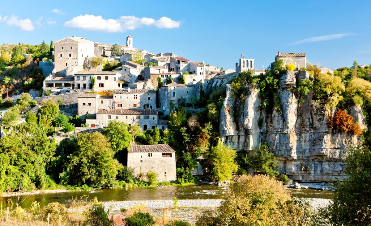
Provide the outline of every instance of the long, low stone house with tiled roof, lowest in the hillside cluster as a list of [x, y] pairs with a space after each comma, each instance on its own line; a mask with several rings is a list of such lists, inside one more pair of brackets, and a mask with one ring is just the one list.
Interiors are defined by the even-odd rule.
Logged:
[[143, 130], [154, 129], [158, 123], [158, 112], [156, 109], [100, 109], [96, 112], [96, 118], [86, 119], [86, 123], [91, 128], [103, 128], [112, 120], [128, 125], [137, 124]]

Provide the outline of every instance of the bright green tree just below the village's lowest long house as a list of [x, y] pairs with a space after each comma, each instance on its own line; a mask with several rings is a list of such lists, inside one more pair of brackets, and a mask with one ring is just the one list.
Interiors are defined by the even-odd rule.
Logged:
[[121, 152], [127, 149], [133, 139], [133, 135], [129, 133], [129, 125], [116, 120], [109, 121], [108, 126], [103, 128], [104, 136], [111, 144], [110, 148], [114, 153]]

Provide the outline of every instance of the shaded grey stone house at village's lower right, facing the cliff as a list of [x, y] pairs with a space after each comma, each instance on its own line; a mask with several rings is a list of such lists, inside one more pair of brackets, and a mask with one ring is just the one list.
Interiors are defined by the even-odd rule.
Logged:
[[170, 111], [178, 107], [179, 101], [189, 103], [191, 98], [196, 96], [196, 90], [195, 85], [183, 85], [176, 82], [163, 85], [158, 90], [159, 111], [164, 115], [169, 115]]

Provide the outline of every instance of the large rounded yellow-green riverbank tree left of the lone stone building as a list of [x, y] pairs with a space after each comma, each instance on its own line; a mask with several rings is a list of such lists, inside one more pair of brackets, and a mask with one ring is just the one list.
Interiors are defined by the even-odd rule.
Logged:
[[86, 184], [93, 188], [111, 187], [122, 165], [113, 158], [114, 152], [104, 135], [80, 133], [71, 142], [74, 148], [60, 173], [61, 182], [77, 186]]

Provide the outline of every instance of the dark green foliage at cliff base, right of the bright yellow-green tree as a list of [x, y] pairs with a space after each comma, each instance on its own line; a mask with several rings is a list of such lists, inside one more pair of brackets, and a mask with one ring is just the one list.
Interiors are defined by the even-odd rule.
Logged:
[[240, 156], [240, 171], [246, 172], [249, 168], [256, 168], [256, 171], [275, 178], [278, 175], [277, 157], [269, 151], [267, 143], [259, 144], [252, 153]]

